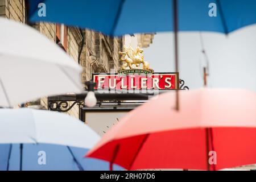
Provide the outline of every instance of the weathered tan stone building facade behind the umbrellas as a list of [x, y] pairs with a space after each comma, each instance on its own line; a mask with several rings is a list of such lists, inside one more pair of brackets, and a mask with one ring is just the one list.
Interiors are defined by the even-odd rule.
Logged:
[[[27, 17], [28, 7], [26, 0], [0, 0], [0, 16], [29, 24], [46, 35], [52, 42], [59, 44], [83, 68], [82, 82], [89, 81], [92, 73], [109, 73], [111, 69], [119, 68], [121, 61], [119, 61], [118, 51], [122, 50], [125, 37], [112, 38], [100, 32], [55, 23], [31, 24]], [[152, 41], [147, 42], [151, 34], [137, 36], [138, 45], [141, 47], [148, 47]], [[127, 40], [129, 41], [129, 38]], [[44, 97], [28, 102], [28, 106], [48, 109], [47, 103], [48, 99]], [[79, 118], [79, 106], [75, 105], [68, 113]]]

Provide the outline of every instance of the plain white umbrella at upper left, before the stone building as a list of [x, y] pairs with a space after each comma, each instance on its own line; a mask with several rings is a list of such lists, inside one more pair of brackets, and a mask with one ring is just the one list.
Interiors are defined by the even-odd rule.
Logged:
[[0, 18], [0, 106], [80, 93], [81, 67], [32, 27]]

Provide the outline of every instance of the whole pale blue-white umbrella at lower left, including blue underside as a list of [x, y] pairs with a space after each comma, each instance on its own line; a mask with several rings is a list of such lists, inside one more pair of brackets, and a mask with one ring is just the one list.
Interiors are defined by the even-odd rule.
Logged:
[[25, 108], [0, 109], [0, 117], [0, 170], [108, 169], [83, 158], [100, 136], [79, 119]]

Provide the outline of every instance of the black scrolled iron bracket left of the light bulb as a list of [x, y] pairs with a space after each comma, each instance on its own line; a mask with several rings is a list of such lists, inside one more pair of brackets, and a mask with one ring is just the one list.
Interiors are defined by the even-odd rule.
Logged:
[[75, 101], [70, 106], [68, 105], [68, 101], [49, 101], [49, 110], [59, 111], [59, 112], [67, 112], [72, 109], [73, 106], [78, 105], [79, 107], [84, 106], [84, 101]]

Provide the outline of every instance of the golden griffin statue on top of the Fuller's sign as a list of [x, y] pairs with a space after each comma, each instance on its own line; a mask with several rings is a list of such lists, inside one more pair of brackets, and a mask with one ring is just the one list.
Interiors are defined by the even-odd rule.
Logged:
[[[134, 50], [131, 46], [123, 46], [124, 52], [119, 51], [119, 55], [122, 55], [121, 61], [124, 61], [122, 70], [125, 69], [145, 69], [150, 72], [154, 72], [147, 61], [144, 61], [143, 49], [137, 47]], [[142, 64], [142, 68], [140, 65]]]

